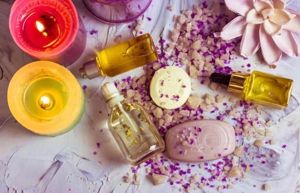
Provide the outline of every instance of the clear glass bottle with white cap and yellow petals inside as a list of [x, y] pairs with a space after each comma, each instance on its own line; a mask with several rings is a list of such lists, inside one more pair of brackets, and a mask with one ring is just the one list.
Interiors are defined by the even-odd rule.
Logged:
[[108, 128], [126, 160], [137, 166], [164, 150], [164, 141], [142, 106], [126, 102], [111, 82], [102, 86], [111, 107]]

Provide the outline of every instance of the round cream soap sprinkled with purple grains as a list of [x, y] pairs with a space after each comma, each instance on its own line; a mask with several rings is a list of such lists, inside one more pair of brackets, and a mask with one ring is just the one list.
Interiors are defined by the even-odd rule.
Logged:
[[175, 66], [157, 70], [150, 83], [154, 103], [163, 109], [181, 107], [190, 94], [190, 79], [186, 72]]

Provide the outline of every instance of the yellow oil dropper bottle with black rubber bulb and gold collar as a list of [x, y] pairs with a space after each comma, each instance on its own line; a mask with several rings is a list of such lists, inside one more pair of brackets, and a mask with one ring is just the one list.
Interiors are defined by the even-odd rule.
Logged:
[[284, 109], [287, 107], [293, 81], [272, 74], [253, 71], [250, 75], [212, 73], [210, 80], [228, 86], [228, 91], [242, 93], [242, 99], [253, 103]]

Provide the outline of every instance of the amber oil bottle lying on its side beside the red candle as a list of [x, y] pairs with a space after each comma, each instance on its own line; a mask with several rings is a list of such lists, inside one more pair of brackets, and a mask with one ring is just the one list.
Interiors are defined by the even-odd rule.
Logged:
[[95, 60], [79, 69], [82, 78], [113, 77], [158, 60], [158, 53], [149, 33], [100, 51]]

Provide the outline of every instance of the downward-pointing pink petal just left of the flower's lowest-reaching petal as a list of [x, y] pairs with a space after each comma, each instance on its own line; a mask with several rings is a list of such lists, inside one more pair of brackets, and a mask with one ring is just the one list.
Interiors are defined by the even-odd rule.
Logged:
[[240, 43], [240, 55], [253, 55], [259, 49], [259, 25], [248, 23]]

